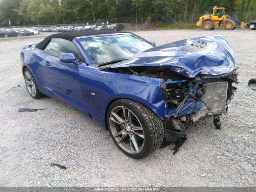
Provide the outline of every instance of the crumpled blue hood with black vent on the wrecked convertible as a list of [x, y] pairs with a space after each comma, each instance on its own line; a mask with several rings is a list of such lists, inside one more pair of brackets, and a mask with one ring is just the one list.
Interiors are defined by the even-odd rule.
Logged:
[[[194, 42], [206, 43], [204, 48], [186, 50]], [[197, 43], [196, 43], [197, 44]], [[191, 46], [190, 46], [191, 48]], [[135, 66], [164, 66], [188, 78], [220, 75], [234, 70], [234, 52], [220, 35], [192, 38], [157, 46], [135, 54], [133, 58], [110, 65], [110, 68]]]

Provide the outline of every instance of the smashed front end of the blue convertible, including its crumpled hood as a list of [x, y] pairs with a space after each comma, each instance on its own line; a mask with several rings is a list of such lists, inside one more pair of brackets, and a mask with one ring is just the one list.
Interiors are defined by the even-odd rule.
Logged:
[[166, 105], [164, 143], [175, 143], [174, 154], [186, 141], [189, 124], [220, 116], [228, 110], [237, 82], [234, 53], [222, 36], [187, 39], [158, 46], [102, 70], [161, 79]]

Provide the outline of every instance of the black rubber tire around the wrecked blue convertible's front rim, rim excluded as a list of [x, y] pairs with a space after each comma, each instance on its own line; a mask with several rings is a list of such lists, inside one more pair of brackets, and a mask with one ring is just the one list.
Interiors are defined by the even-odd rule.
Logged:
[[[115, 140], [112, 131], [110, 130], [110, 113], [114, 108], [119, 106], [124, 106], [125, 108], [132, 111], [142, 125], [144, 132], [144, 146], [142, 150], [137, 154], [128, 153], [123, 150]], [[162, 144], [164, 139], [164, 126], [162, 120], [152, 110], [134, 100], [119, 99], [110, 104], [107, 112], [107, 123], [110, 135], [118, 148], [124, 152], [124, 154], [132, 158], [145, 158], [147, 155], [156, 150]]]

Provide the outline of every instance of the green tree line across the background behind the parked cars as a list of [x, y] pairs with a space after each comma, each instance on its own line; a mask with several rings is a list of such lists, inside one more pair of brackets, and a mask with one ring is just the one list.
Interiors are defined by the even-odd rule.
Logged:
[[0, 0], [0, 26], [109, 21], [190, 28], [214, 6], [241, 21], [256, 18], [256, 0]]

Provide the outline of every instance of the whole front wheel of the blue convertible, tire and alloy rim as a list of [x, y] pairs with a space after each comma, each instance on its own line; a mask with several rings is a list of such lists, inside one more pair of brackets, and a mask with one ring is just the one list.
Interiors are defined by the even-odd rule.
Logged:
[[164, 139], [162, 120], [149, 108], [130, 99], [114, 101], [107, 112], [108, 130], [122, 152], [141, 159]]

